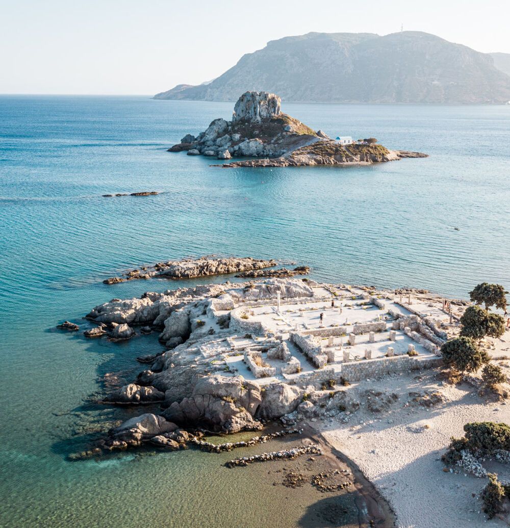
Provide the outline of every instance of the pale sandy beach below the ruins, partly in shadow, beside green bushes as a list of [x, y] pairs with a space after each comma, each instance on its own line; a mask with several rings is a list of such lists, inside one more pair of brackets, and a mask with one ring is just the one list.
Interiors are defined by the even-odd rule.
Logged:
[[[506, 334], [506, 338], [510, 334]], [[422, 380], [416, 373], [393, 375], [384, 380], [352, 386], [358, 394], [364, 389], [391, 390], [400, 395], [392, 409], [374, 414], [366, 403], [353, 414], [350, 422], [324, 421], [326, 439], [350, 457], [374, 483], [397, 515], [397, 525], [415, 528], [473, 528], [504, 526], [503, 521], [486, 521], [478, 495], [487, 483], [476, 478], [443, 472], [440, 457], [450, 437], [464, 436], [462, 427], [472, 421], [510, 423], [510, 404], [485, 403], [468, 385], [442, 384], [438, 373], [425, 371]], [[417, 404], [404, 407], [408, 392], [439, 390], [445, 404], [426, 409]], [[363, 425], [364, 424], [364, 425]], [[427, 424], [430, 429], [412, 432]], [[510, 478], [510, 468], [487, 463], [486, 468]]]

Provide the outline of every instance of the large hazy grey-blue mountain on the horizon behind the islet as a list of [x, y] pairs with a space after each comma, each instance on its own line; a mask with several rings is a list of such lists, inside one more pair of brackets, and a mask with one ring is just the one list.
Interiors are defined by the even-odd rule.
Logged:
[[155, 99], [229, 101], [247, 90], [285, 101], [502, 103], [510, 77], [490, 55], [428, 33], [308, 33], [243, 55], [210, 84]]

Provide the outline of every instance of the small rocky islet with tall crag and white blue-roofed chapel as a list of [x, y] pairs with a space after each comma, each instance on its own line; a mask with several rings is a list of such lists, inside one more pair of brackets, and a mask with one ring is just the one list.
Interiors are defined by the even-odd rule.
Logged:
[[310, 165], [354, 165], [428, 157], [409, 150], [390, 150], [375, 138], [331, 139], [323, 130], [313, 130], [298, 119], [281, 112], [281, 100], [274, 93], [249, 91], [234, 106], [231, 121], [214, 119], [198, 136], [186, 134], [169, 152], [187, 151], [229, 160], [251, 157], [221, 167], [288, 167]]

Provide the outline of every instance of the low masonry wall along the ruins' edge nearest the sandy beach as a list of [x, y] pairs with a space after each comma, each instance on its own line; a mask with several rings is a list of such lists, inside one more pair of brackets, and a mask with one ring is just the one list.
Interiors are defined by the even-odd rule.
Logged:
[[362, 360], [342, 365], [342, 378], [348, 382], [379, 378], [392, 372], [407, 372], [409, 370], [430, 369], [440, 366], [440, 357], [419, 359], [407, 354], [393, 357], [382, 357], [375, 360]]

